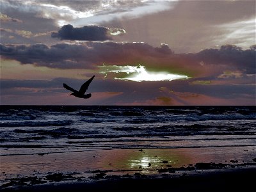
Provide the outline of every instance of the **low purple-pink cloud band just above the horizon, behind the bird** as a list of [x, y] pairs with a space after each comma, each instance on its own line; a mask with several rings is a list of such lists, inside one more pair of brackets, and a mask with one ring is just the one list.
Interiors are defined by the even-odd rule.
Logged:
[[[84, 100], [68, 97], [67, 90], [62, 87], [63, 83], [67, 83], [79, 89], [84, 79], [2, 79], [0, 83], [2, 104], [31, 104], [34, 100], [37, 104], [39, 102], [41, 104], [84, 103]], [[88, 92], [92, 93], [93, 97], [86, 100], [87, 104], [255, 104], [255, 84], [190, 84], [188, 81], [179, 80], [137, 83], [113, 79], [103, 80], [98, 74]], [[48, 97], [52, 97], [51, 100], [47, 99]]]

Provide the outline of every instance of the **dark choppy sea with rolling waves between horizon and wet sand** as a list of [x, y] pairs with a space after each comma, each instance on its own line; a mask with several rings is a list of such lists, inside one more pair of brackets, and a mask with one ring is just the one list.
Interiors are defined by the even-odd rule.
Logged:
[[1, 156], [256, 146], [255, 106], [1, 106]]

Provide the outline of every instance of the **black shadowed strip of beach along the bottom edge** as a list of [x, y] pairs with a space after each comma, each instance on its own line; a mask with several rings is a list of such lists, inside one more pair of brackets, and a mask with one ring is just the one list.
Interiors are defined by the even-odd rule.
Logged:
[[1, 191], [250, 191], [256, 166], [214, 169], [179, 177], [168, 174], [110, 176], [95, 180], [68, 181], [2, 188]]

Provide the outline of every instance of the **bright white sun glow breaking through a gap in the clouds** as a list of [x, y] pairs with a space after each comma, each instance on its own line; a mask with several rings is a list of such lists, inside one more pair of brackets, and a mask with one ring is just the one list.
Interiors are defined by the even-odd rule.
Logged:
[[[180, 74], [170, 74], [168, 72], [149, 72], [144, 66], [117, 66], [117, 65], [102, 65], [99, 66], [100, 73], [106, 74], [113, 72], [116, 74], [126, 73], [125, 77], [115, 77], [115, 79], [129, 80], [129, 81], [172, 81], [175, 79], [188, 79], [188, 76]], [[105, 76], [105, 77], [106, 77]]]

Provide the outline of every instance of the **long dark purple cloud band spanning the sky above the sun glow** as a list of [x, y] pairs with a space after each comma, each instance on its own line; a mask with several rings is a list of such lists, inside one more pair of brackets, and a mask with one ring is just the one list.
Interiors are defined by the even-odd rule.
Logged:
[[49, 68], [94, 68], [102, 65], [143, 65], [148, 70], [184, 74], [189, 77], [218, 77], [225, 71], [255, 74], [256, 52], [234, 45], [205, 49], [194, 54], [173, 54], [168, 45], [86, 42], [84, 44], [0, 45], [3, 58]]

